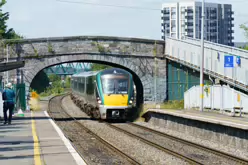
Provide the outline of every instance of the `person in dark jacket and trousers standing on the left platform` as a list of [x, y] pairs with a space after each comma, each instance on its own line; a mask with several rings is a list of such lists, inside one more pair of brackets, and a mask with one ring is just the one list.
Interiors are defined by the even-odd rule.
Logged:
[[[3, 98], [3, 114], [4, 114], [4, 124], [11, 124], [12, 113], [15, 107], [15, 92], [11, 89], [12, 84], [8, 83], [2, 93]], [[7, 118], [7, 111], [9, 110], [9, 118]]]

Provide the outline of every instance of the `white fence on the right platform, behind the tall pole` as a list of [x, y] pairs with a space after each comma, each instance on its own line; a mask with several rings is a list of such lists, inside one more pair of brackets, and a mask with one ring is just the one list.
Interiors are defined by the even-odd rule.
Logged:
[[[206, 87], [205, 87], [206, 88]], [[200, 107], [200, 86], [193, 86], [184, 93], [184, 108]], [[204, 108], [232, 111], [234, 107], [243, 107], [248, 112], [248, 96], [228, 86], [210, 86], [204, 91]]]

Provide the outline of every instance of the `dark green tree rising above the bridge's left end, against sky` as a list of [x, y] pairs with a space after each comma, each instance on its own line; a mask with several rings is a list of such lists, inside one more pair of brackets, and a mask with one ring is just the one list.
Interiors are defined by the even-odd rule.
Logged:
[[6, 22], [9, 19], [9, 12], [3, 13], [2, 7], [6, 4], [6, 0], [0, 2], [0, 39], [20, 39], [23, 38], [17, 34], [13, 28], [8, 29]]

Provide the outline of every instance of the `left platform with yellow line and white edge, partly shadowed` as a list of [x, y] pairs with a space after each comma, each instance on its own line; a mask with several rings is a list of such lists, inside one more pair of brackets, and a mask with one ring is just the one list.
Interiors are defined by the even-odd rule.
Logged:
[[14, 117], [0, 124], [1, 165], [85, 164], [46, 111]]

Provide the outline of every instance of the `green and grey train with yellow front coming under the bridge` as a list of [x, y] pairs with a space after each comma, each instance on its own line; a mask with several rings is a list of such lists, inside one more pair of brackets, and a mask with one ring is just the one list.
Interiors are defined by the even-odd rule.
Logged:
[[126, 120], [134, 104], [132, 75], [120, 68], [82, 72], [71, 76], [71, 98], [96, 119]]

